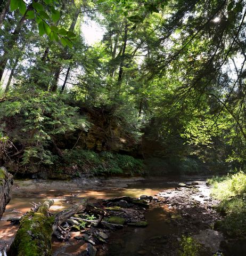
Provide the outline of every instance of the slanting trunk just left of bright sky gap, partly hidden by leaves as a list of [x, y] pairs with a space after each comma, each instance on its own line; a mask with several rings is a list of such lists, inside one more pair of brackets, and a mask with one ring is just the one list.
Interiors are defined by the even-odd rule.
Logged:
[[[77, 8], [76, 11], [75, 11], [75, 14], [73, 16], [73, 20], [72, 20], [72, 23], [70, 25], [69, 31], [73, 31], [75, 29], [75, 25], [76, 25], [76, 22], [78, 20], [79, 13], [80, 13], [80, 9]], [[67, 51], [68, 51], [68, 47], [66, 46], [64, 48], [64, 50], [62, 51], [62, 53], [61, 53], [61, 56], [62, 56], [63, 59], [69, 59], [66, 56]], [[53, 79], [53, 83], [52, 83], [52, 86], [51, 86], [51, 89], [50, 89], [52, 92], [56, 92], [56, 90], [58, 89], [58, 81], [59, 81], [59, 76], [60, 76], [61, 69], [62, 69], [61, 65], [59, 65], [58, 67], [55, 68], [54, 79]]]

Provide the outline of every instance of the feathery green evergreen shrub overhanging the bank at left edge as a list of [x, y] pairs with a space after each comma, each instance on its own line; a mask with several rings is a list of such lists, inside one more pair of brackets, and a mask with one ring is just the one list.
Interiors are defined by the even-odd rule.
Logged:
[[10, 159], [21, 153], [24, 166], [53, 164], [56, 156], [49, 146], [55, 143], [55, 136], [87, 130], [89, 126], [78, 108], [69, 106], [63, 95], [38, 90], [16, 92], [0, 103], [0, 148], [6, 145], [6, 139], [10, 146], [21, 145], [20, 152], [16, 152], [17, 148], [4, 148], [4, 155]]

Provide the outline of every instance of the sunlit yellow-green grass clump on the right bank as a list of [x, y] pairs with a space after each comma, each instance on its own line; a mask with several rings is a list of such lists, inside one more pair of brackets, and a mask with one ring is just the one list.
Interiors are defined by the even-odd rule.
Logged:
[[208, 182], [211, 195], [220, 200], [217, 211], [225, 215], [218, 228], [228, 235], [246, 235], [246, 174], [240, 171]]

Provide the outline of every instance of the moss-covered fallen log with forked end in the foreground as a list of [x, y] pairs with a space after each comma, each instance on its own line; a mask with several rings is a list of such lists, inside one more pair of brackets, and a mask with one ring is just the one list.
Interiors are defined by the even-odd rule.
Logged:
[[47, 200], [36, 212], [29, 211], [21, 218], [17, 235], [7, 252], [8, 256], [51, 256], [52, 233], [72, 215], [83, 211], [87, 201], [83, 200], [56, 215], [51, 215], [48, 211], [53, 204], [53, 200]]

